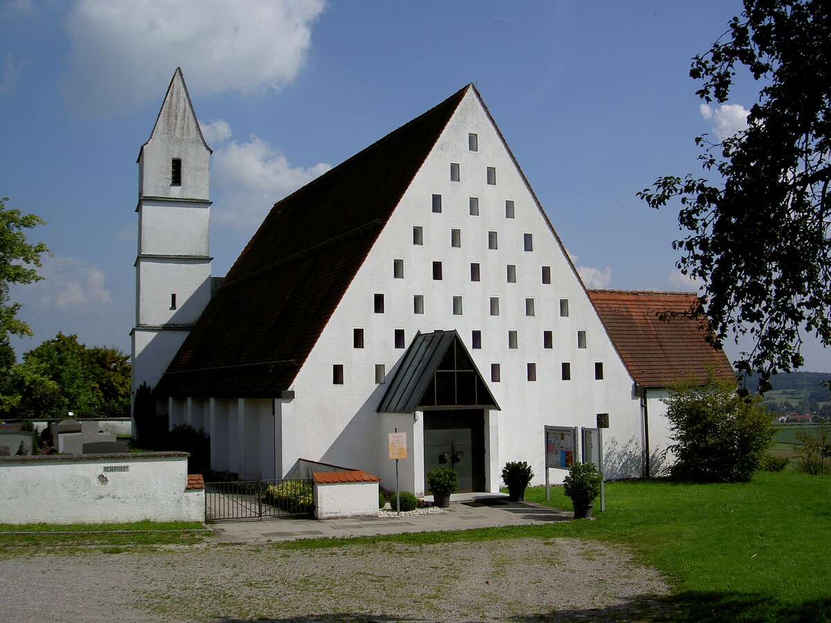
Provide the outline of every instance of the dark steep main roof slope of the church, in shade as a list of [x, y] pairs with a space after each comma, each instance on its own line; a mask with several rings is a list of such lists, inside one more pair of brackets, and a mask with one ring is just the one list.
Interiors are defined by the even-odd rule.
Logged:
[[465, 86], [275, 204], [157, 390], [288, 390], [401, 196], [473, 86]]

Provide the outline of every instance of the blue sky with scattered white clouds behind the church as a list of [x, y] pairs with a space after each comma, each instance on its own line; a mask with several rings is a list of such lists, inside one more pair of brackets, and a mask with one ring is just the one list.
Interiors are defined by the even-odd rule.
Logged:
[[[758, 86], [701, 110], [687, 76], [738, 14], [699, 2], [0, 0], [0, 196], [48, 224], [46, 279], [14, 288], [34, 338], [130, 348], [135, 159], [181, 66], [212, 164], [227, 272], [268, 208], [475, 82], [588, 287], [695, 290], [676, 211], [637, 199], [696, 170]], [[727, 348], [731, 358], [737, 349]], [[809, 341], [805, 370], [831, 370]]]

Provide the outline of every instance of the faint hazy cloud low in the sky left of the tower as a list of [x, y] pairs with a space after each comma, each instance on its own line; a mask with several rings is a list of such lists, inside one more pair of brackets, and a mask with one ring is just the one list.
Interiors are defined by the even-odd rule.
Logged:
[[61, 312], [112, 304], [104, 273], [81, 259], [49, 257], [38, 271], [43, 279], [26, 286], [33, 302]]

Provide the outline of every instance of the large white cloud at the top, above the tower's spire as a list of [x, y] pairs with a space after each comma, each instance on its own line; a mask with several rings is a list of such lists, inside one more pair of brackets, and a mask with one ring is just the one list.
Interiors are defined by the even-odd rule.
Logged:
[[79, 0], [66, 100], [101, 113], [158, 98], [177, 66], [191, 91], [278, 90], [294, 80], [325, 0]]

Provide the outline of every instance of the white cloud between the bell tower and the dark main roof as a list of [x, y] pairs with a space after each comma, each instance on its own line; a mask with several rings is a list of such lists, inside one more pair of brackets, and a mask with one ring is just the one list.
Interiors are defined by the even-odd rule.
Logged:
[[[216, 139], [231, 136], [230, 126], [222, 120], [205, 127]], [[278, 200], [329, 169], [332, 166], [324, 163], [307, 169], [292, 166], [282, 151], [257, 135], [244, 143], [219, 140], [212, 165], [215, 217], [240, 228], [256, 226]]]

